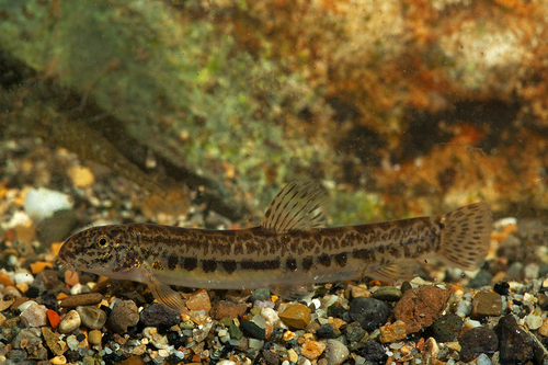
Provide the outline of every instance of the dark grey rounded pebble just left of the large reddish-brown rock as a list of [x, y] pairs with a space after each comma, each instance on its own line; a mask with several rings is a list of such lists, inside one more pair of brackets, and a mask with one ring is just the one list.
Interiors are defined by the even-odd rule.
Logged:
[[350, 304], [349, 316], [359, 322], [367, 331], [375, 330], [388, 320], [390, 308], [384, 301], [374, 298], [358, 297]]

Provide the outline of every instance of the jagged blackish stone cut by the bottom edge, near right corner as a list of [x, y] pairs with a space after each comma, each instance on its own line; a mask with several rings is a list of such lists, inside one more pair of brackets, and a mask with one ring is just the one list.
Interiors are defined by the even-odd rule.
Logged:
[[525, 364], [533, 358], [534, 341], [525, 330], [517, 326], [514, 316], [502, 317], [494, 329], [500, 333], [502, 364]]

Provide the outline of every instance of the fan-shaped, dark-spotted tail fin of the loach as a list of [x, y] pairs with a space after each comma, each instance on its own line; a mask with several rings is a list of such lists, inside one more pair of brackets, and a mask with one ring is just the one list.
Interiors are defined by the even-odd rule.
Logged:
[[476, 270], [486, 259], [491, 241], [491, 206], [475, 203], [444, 216], [442, 243], [437, 252], [446, 264]]

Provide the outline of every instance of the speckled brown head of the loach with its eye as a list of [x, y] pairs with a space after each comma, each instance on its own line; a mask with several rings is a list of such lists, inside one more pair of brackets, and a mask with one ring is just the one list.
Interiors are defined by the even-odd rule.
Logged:
[[67, 267], [114, 278], [125, 278], [141, 263], [130, 226], [93, 227], [69, 237], [58, 261]]

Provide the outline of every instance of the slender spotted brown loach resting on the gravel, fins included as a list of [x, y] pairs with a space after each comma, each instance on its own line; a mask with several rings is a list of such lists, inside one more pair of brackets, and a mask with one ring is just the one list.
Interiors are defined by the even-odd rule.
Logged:
[[297, 299], [320, 283], [409, 280], [419, 263], [431, 258], [476, 270], [489, 251], [492, 214], [487, 203], [445, 215], [344, 227], [324, 227], [326, 206], [321, 184], [295, 181], [279, 191], [256, 227], [92, 227], [69, 237], [58, 260], [71, 271], [146, 283], [159, 303], [189, 313], [170, 285], [269, 287]]

